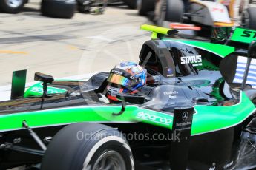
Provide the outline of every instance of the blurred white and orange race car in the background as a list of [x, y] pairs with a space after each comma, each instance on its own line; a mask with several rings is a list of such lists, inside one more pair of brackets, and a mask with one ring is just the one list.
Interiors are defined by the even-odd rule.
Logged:
[[[251, 3], [251, 2], [250, 2]], [[243, 27], [256, 29], [256, 8], [249, 7], [232, 19], [226, 6], [212, 0], [141, 0], [140, 15], [148, 15], [162, 27], [181, 30], [180, 35], [209, 38], [212, 27], [233, 27], [235, 22]], [[237, 14], [238, 15], [238, 14]]]

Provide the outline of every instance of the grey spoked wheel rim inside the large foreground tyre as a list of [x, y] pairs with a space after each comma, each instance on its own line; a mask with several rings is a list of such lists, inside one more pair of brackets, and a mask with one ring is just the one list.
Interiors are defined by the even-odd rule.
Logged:
[[92, 170], [125, 170], [125, 160], [116, 151], [103, 152], [96, 160]]

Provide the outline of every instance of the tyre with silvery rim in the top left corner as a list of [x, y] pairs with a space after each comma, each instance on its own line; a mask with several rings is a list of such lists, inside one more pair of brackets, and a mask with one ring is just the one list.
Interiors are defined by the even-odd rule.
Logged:
[[24, 0], [0, 0], [0, 10], [4, 13], [19, 13], [24, 3]]

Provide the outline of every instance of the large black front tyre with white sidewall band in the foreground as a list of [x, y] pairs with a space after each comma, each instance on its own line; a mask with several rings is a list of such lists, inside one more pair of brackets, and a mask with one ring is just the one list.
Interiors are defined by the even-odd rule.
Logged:
[[50, 142], [41, 170], [134, 169], [131, 148], [122, 134], [97, 123], [74, 123]]

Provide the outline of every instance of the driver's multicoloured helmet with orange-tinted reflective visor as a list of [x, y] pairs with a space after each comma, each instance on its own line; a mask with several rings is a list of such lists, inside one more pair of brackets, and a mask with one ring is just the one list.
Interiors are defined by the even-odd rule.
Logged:
[[123, 62], [111, 69], [108, 76], [107, 97], [111, 101], [120, 101], [118, 93], [134, 94], [145, 85], [147, 70], [134, 62]]

